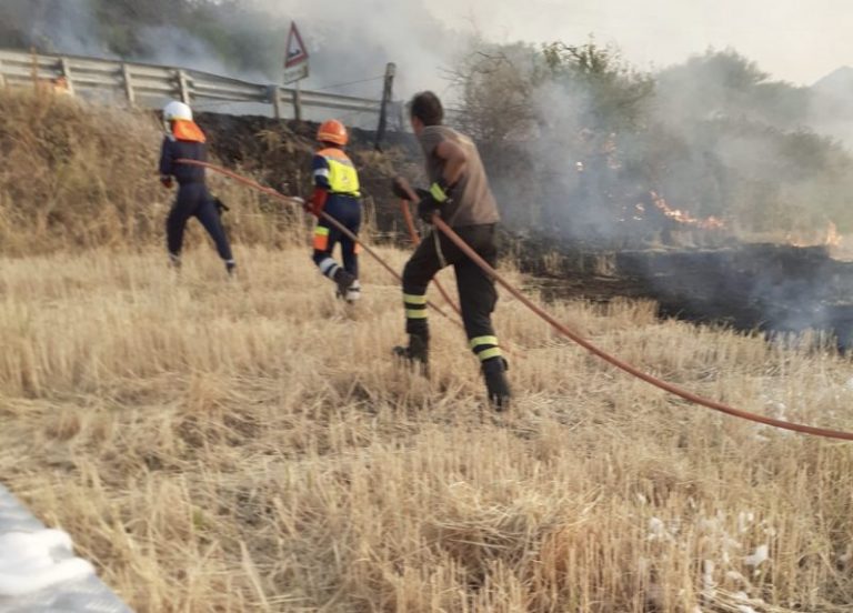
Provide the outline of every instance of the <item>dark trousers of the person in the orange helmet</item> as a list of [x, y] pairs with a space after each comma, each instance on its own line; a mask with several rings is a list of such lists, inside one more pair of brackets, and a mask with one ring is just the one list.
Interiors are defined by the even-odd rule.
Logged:
[[[349, 195], [329, 194], [323, 212], [334, 218], [353, 234], [359, 234], [359, 229], [361, 228], [361, 203], [358, 199]], [[343, 232], [322, 217], [318, 220], [314, 228], [314, 252], [312, 257], [314, 263], [320, 269], [320, 272], [329, 279], [333, 279], [334, 273], [340, 267], [332, 258], [332, 251], [334, 251], [334, 245], [339, 242], [341, 243], [341, 254], [343, 257], [343, 270], [358, 279], [358, 245], [352, 239], [344, 235]]]

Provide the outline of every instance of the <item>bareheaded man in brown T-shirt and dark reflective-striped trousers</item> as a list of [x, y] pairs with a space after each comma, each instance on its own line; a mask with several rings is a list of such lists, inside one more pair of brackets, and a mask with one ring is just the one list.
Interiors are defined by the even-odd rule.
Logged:
[[[421, 190], [419, 217], [430, 222], [439, 213], [471, 248], [492, 267], [498, 259], [495, 224], [500, 215], [473, 141], [442, 124], [444, 111], [431, 91], [414, 96], [410, 120], [425, 157], [429, 190]], [[399, 185], [395, 185], [399, 193]], [[394, 353], [410, 363], [429, 364], [430, 331], [426, 287], [445, 265], [453, 265], [469, 346], [480, 360], [490, 404], [509, 408], [506, 361], [492, 326], [498, 301], [494, 281], [444, 234], [432, 230], [403, 269], [403, 304], [408, 346]]]

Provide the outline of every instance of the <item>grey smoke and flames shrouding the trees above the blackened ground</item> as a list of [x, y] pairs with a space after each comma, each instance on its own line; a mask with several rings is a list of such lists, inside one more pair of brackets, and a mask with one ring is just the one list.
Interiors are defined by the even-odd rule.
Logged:
[[[511, 58], [523, 78], [492, 69], [468, 77], [465, 102], [490, 125], [496, 120], [483, 109], [501, 104], [482, 100], [496, 96], [490, 83], [526, 87], [514, 130], [461, 121], [485, 138], [516, 225], [610, 248], [672, 243], [691, 230], [691, 240], [719, 244], [756, 233], [795, 241], [830, 223], [853, 229], [853, 159], [807, 124], [812, 91], [767, 80], [731, 50], [658, 73], [635, 72], [594, 42], [551, 51], [532, 69]], [[528, 167], [523, 177], [508, 171], [513, 164]]]

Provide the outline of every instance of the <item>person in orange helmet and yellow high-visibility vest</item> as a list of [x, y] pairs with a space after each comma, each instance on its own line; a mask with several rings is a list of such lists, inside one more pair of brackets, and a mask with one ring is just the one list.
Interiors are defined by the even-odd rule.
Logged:
[[[312, 259], [320, 272], [334, 281], [338, 287], [338, 297], [353, 303], [361, 298], [358, 245], [320, 213], [325, 212], [353, 234], [359, 233], [361, 227], [359, 173], [352, 160], [343, 151], [349, 140], [343, 123], [337, 119], [324, 121], [317, 131], [317, 140], [321, 147], [312, 161], [314, 192], [304, 207], [307, 212], [318, 218]], [[343, 265], [332, 257], [334, 245], [339, 242]]]

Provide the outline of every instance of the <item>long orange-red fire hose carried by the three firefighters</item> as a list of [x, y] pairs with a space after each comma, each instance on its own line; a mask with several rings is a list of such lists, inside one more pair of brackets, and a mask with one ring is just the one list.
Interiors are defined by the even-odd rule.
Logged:
[[[273, 198], [278, 198], [279, 200], [284, 200], [289, 202], [294, 202], [295, 199], [289, 198], [272, 188], [264, 188], [263, 185], [260, 185], [259, 183], [255, 183], [254, 181], [247, 179], [244, 177], [241, 177], [234, 172], [231, 172], [224, 168], [218, 167], [215, 164], [211, 164], [208, 162], [199, 162], [195, 160], [178, 160], [179, 163], [188, 163], [193, 165], [202, 165], [204, 168], [209, 168], [215, 172], [219, 172], [220, 174], [224, 174], [225, 177], [230, 177], [231, 179], [234, 179], [245, 185], [252, 187], [263, 193], [267, 193]], [[410, 192], [410, 198], [413, 201], [418, 200], [418, 195]], [[330, 215], [325, 213], [321, 213], [324, 215], [323, 219], [327, 219], [330, 223], [333, 223], [335, 228], [343, 231], [344, 234], [349, 235], [350, 239], [358, 241], [358, 239], [352, 235], [349, 231], [347, 231], [345, 228], [340, 225], [337, 220], [331, 218]], [[504, 288], [510, 294], [512, 294], [519, 302], [524, 304], [528, 309], [530, 309], [534, 314], [536, 314], [540, 319], [545, 321], [548, 324], [550, 324], [554, 330], [556, 330], [560, 334], [563, 336], [570, 339], [574, 343], [579, 344], [593, 355], [596, 355], [598, 358], [604, 360], [605, 362], [610, 363], [611, 365], [631, 374], [632, 376], [635, 376], [642, 381], [645, 381], [646, 383], [654, 385], [655, 388], [659, 388], [665, 392], [669, 392], [673, 395], [676, 395], [679, 398], [682, 398], [689, 402], [692, 402], [694, 404], [699, 404], [701, 406], [705, 406], [708, 409], [712, 409], [714, 411], [720, 411], [722, 413], [725, 413], [727, 415], [732, 415], [735, 418], [740, 418], [742, 420], [755, 422], [755, 423], [762, 423], [764, 425], [770, 425], [773, 428], [779, 428], [781, 430], [789, 430], [792, 432], [800, 432], [803, 434], [812, 434], [815, 436], [823, 436], [826, 439], [841, 439], [845, 441], [853, 441], [853, 432], [844, 432], [840, 430], [831, 430], [826, 428], [817, 428], [813, 425], [806, 425], [806, 424], [800, 424], [800, 423], [793, 423], [787, 422], [783, 420], [777, 420], [774, 418], [767, 418], [764, 415], [759, 415], [756, 413], [752, 413], [749, 411], [744, 411], [741, 409], [735, 409], [733, 406], [730, 406], [727, 404], [724, 404], [722, 402], [717, 402], [715, 400], [706, 399], [704, 396], [701, 396], [699, 394], [695, 394], [689, 390], [685, 390], [681, 388], [680, 385], [675, 385], [673, 383], [670, 383], [668, 381], [663, 381], [661, 379], [658, 379], [656, 376], [653, 376], [649, 373], [645, 373], [635, 366], [632, 366], [631, 364], [620, 360], [619, 358], [608, 353], [606, 351], [600, 349], [592, 342], [588, 341], [576, 332], [572, 331], [566, 326], [565, 324], [561, 323], [556, 319], [554, 319], [551, 314], [549, 314], [546, 311], [544, 311], [541, 306], [535, 304], [532, 300], [526, 298], [523, 293], [521, 293], [519, 290], [516, 290], [506, 279], [504, 279], [494, 268], [492, 268], [485, 260], [483, 260], [471, 247], [463, 241], [459, 234], [456, 234], [450, 225], [448, 225], [439, 215], [438, 213], [433, 213], [432, 217], [432, 223], [433, 225], [442, 232], [448, 239], [453, 242], [465, 255], [468, 255], [471, 261], [473, 261], [476, 265], [479, 265], [486, 274], [489, 274], [492, 279], [494, 279], [502, 288]], [[373, 252], [369, 247], [364, 245], [360, 242], [360, 244], [365, 249], [368, 253], [370, 253], [382, 267], [388, 270], [398, 281], [401, 281], [400, 275], [394, 272], [394, 270], [384, 262], [375, 252]], [[434, 304], [430, 303], [430, 306], [438, 310], [439, 312], [442, 312], [441, 309], [435, 306]], [[444, 314], [444, 313], [442, 313]], [[444, 314], [445, 318], [449, 318], [449, 315]], [[454, 320], [451, 320], [454, 321]]]

